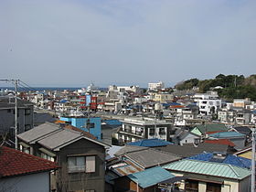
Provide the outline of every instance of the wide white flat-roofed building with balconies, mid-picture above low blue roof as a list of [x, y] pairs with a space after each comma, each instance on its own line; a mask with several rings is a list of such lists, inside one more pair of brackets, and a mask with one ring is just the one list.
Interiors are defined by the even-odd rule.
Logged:
[[120, 144], [152, 138], [169, 141], [171, 123], [149, 118], [127, 118], [122, 122], [122, 128], [118, 131], [116, 138]]

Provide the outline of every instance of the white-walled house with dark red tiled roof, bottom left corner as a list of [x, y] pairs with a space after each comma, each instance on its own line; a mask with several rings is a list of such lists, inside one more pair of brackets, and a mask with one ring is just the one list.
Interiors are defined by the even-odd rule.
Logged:
[[48, 192], [50, 171], [59, 168], [53, 162], [0, 147], [0, 191]]

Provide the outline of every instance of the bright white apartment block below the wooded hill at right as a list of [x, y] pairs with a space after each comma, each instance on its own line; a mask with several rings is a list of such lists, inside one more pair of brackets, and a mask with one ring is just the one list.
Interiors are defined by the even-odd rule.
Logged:
[[211, 115], [221, 108], [221, 100], [217, 91], [208, 91], [207, 93], [197, 93], [193, 97], [199, 107], [199, 114]]

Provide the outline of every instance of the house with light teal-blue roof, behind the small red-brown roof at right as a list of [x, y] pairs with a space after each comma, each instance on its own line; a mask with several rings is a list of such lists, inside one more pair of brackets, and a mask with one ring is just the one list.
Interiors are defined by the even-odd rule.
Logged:
[[238, 149], [242, 149], [246, 143], [246, 135], [237, 132], [219, 132], [208, 136], [216, 139], [229, 139]]

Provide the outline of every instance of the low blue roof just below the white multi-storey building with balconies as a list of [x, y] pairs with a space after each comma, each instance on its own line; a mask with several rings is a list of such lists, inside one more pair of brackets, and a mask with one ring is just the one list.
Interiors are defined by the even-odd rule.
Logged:
[[166, 145], [172, 144], [172, 143], [155, 138], [155, 139], [144, 139], [144, 140], [140, 140], [140, 141], [132, 142], [132, 143], [128, 143], [128, 144], [135, 145], [135, 146], [153, 147], [153, 146], [166, 146]]

